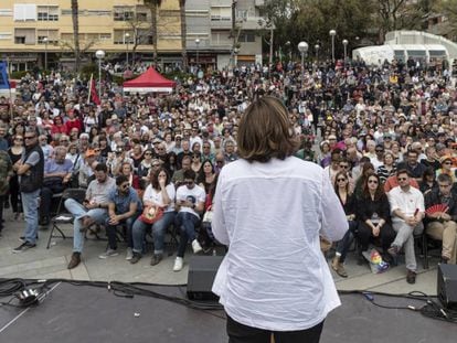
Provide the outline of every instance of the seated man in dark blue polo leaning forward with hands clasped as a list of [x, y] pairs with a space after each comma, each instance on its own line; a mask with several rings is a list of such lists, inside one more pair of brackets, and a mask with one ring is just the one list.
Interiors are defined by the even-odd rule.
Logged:
[[116, 178], [116, 187], [108, 194], [108, 218], [106, 219], [106, 235], [108, 236], [108, 248], [98, 257], [102, 259], [117, 256], [116, 227], [123, 225], [127, 233], [127, 256], [132, 258], [134, 238], [131, 227], [141, 214], [142, 203], [137, 191], [130, 185], [129, 178], [120, 174]]

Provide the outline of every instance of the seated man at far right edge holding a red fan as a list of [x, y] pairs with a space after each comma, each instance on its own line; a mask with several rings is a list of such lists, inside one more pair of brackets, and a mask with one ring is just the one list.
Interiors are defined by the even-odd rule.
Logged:
[[442, 264], [456, 264], [457, 254], [457, 194], [451, 192], [453, 179], [448, 174], [439, 174], [439, 189], [425, 195], [425, 208], [434, 205], [446, 205], [447, 210], [426, 214], [425, 232], [434, 239], [443, 240]]

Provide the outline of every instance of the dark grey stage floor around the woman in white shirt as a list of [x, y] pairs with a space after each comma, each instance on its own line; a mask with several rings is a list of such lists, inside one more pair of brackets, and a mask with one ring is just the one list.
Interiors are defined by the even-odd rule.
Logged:
[[[184, 287], [148, 286], [184, 298]], [[387, 310], [363, 296], [341, 296], [342, 306], [326, 321], [321, 342], [456, 342], [457, 324], [418, 312]], [[4, 301], [4, 299], [2, 299]], [[422, 304], [375, 297], [389, 306]], [[227, 342], [223, 311], [194, 310], [167, 300], [116, 297], [107, 289], [57, 283], [36, 307], [0, 307], [0, 342]]]

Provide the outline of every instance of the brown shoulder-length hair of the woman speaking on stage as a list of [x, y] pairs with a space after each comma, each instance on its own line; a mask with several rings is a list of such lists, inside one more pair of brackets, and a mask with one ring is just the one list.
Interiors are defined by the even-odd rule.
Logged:
[[268, 162], [293, 156], [299, 146], [287, 108], [270, 96], [252, 103], [240, 121], [238, 156], [248, 162]]

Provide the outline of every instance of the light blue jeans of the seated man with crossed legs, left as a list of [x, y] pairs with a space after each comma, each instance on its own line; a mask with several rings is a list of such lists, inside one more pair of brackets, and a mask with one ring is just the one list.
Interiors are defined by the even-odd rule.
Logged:
[[73, 251], [82, 253], [84, 247], [84, 233], [81, 232], [81, 227], [83, 226], [81, 218], [89, 216], [95, 223], [105, 224], [108, 217], [108, 211], [106, 208], [87, 210], [74, 199], [67, 199], [64, 204], [65, 208], [75, 217], [73, 225]]

